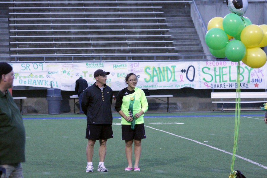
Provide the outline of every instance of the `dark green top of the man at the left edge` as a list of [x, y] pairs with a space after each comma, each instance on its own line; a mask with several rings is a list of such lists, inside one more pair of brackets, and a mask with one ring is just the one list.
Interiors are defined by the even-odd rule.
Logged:
[[0, 92], [0, 164], [25, 162], [25, 128], [14, 99]]

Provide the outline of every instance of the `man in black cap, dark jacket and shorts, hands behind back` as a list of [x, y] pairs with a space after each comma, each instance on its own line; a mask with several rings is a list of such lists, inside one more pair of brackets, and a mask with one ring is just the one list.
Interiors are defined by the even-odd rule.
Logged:
[[99, 140], [99, 165], [97, 171], [107, 172], [104, 159], [107, 152], [107, 139], [113, 138], [112, 131], [112, 89], [106, 85], [107, 75], [98, 69], [94, 72], [96, 82], [86, 88], [82, 97], [82, 111], [87, 116], [86, 147], [87, 167], [86, 172], [93, 172], [93, 153], [96, 140]]

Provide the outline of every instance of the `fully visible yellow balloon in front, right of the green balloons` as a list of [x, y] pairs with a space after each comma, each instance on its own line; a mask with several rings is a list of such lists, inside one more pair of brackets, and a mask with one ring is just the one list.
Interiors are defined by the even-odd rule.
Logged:
[[242, 30], [240, 38], [246, 47], [257, 47], [262, 42], [263, 30], [260, 26], [251, 24]]

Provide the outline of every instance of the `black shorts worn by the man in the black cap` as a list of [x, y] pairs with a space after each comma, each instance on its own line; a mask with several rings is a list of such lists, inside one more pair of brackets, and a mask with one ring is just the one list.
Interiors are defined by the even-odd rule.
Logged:
[[113, 138], [112, 126], [109, 124], [87, 124], [85, 138], [90, 140]]

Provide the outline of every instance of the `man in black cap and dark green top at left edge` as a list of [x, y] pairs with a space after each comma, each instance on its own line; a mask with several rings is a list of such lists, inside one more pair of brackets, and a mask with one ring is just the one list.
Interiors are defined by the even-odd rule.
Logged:
[[8, 63], [0, 62], [0, 177], [23, 178], [25, 162], [25, 128], [22, 116], [8, 91], [14, 72]]

